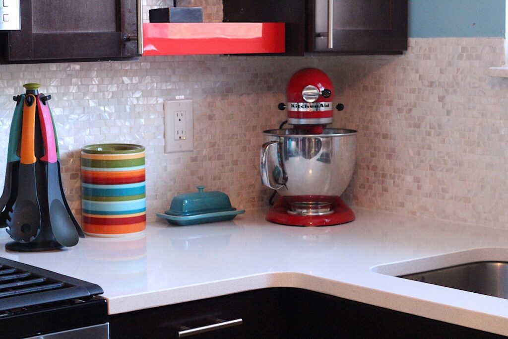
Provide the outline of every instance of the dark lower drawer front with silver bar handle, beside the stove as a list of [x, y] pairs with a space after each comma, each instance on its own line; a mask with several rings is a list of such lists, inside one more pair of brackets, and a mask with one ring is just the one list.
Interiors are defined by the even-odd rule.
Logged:
[[188, 336], [203, 338], [280, 337], [279, 293], [264, 289], [112, 315], [111, 338], [178, 338], [178, 332], [214, 324], [217, 319], [241, 324]]

